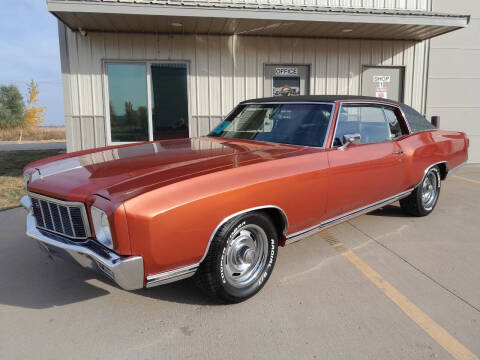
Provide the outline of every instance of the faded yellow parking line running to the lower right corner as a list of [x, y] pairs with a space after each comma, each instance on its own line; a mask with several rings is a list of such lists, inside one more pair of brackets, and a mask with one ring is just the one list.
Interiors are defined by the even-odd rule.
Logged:
[[[323, 234], [322, 234], [323, 235]], [[414, 303], [408, 300], [400, 291], [395, 289], [392, 284], [383, 279], [380, 274], [373, 270], [354, 252], [348, 250], [344, 245], [337, 241], [333, 236], [326, 233], [323, 237], [340, 252], [357, 270], [365, 275], [377, 288], [379, 288], [395, 305], [397, 305], [411, 320], [420, 326], [433, 340], [441, 345], [457, 360], [479, 360], [475, 354], [462, 345], [450, 333], [432, 320]]]

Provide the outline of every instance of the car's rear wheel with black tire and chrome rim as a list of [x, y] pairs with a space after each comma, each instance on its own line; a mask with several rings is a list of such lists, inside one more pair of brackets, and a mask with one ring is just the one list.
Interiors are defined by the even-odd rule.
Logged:
[[428, 170], [420, 185], [406, 198], [400, 200], [402, 209], [414, 216], [426, 216], [437, 205], [440, 196], [441, 174], [438, 166]]

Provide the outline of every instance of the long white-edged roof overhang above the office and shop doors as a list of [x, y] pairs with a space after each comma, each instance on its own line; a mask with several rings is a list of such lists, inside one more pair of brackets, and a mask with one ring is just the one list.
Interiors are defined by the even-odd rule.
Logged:
[[464, 28], [468, 15], [198, 1], [48, 0], [72, 30], [425, 40]]

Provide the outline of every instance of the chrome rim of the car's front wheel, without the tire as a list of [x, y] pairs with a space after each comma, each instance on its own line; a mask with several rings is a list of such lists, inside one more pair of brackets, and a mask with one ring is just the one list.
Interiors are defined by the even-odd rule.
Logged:
[[236, 230], [223, 257], [225, 279], [235, 287], [254, 282], [262, 272], [268, 256], [265, 231], [254, 224]]

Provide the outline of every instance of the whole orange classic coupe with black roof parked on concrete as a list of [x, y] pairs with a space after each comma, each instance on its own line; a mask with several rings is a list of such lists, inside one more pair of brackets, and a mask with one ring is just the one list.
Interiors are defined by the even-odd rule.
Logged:
[[397, 200], [428, 215], [468, 145], [385, 99], [244, 101], [205, 137], [27, 165], [27, 235], [126, 290], [195, 276], [239, 302], [265, 285], [279, 246]]

